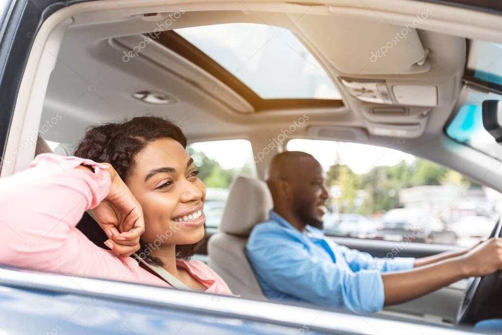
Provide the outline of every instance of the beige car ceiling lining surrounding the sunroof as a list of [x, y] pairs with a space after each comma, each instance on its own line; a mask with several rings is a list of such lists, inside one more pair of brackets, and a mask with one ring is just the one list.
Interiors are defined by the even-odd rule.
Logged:
[[[425, 8], [425, 7], [424, 7]], [[330, 13], [333, 14], [333, 13]], [[370, 128], [415, 125], [409, 143], [427, 141], [442, 133], [458, 97], [465, 64], [465, 39], [413, 29], [409, 40], [398, 43], [386, 57], [368, 61], [402, 29], [385, 20], [355, 20], [343, 15], [291, 14], [248, 11], [187, 12], [170, 29], [221, 23], [258, 23], [288, 28], [304, 42], [325, 67], [343, 95], [344, 107], [319, 107], [253, 111], [225, 83], [187, 62], [164, 46], [152, 43], [128, 62], [123, 51], [155, 29], [155, 22], [117, 11], [108, 16], [81, 14], [73, 17], [51, 75], [42, 120], [60, 113], [64, 118], [45, 137], [74, 144], [90, 125], [139, 115], [167, 116], [177, 122], [190, 142], [249, 138], [254, 133], [277, 134], [307, 113], [308, 127], [296, 137], [329, 138], [386, 145], [396, 139], [375, 136]], [[111, 21], [111, 22], [110, 22]], [[326, 34], [325, 32], [333, 32]], [[416, 63], [430, 50], [424, 65]], [[340, 78], [386, 80], [393, 85], [437, 87], [436, 106], [393, 105], [360, 101], [340, 84]], [[219, 91], [211, 91], [218, 84]], [[132, 94], [154, 90], [174, 97], [176, 103], [152, 105]], [[395, 99], [394, 99], [395, 100]], [[390, 107], [389, 114], [375, 115], [374, 107]], [[405, 107], [407, 115], [394, 115]], [[369, 130], [369, 131], [368, 131]], [[418, 135], [418, 139], [416, 138]], [[408, 138], [408, 136], [404, 136]]]

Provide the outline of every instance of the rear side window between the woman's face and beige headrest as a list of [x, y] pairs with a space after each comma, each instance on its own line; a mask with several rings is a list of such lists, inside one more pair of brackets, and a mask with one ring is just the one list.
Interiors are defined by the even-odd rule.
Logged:
[[257, 174], [255, 165], [249, 161], [249, 157], [253, 157], [251, 143], [247, 140], [198, 142], [190, 144], [187, 151], [200, 170], [199, 178], [206, 185], [206, 226], [216, 228], [232, 180], [241, 173]]

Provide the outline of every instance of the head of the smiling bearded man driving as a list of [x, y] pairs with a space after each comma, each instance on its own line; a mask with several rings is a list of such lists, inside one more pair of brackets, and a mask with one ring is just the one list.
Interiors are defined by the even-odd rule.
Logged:
[[322, 227], [329, 196], [325, 172], [312, 155], [301, 151], [278, 154], [270, 163], [266, 179], [276, 212], [300, 230], [306, 225]]

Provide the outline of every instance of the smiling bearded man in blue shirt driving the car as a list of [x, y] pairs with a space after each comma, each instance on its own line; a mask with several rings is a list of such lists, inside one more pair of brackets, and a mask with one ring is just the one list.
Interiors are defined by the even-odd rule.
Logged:
[[307, 153], [274, 157], [267, 184], [274, 208], [253, 229], [247, 255], [271, 299], [374, 312], [502, 269], [501, 239], [420, 259], [373, 258], [337, 245], [320, 230], [329, 195], [325, 172]]

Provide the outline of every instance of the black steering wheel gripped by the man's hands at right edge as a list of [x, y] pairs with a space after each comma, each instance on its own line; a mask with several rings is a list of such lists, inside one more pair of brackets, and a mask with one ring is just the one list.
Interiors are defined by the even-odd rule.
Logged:
[[[502, 237], [499, 218], [490, 238]], [[481, 320], [502, 318], [502, 271], [471, 279], [469, 288], [458, 308], [457, 323], [474, 324]]]

